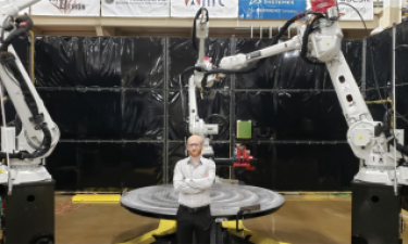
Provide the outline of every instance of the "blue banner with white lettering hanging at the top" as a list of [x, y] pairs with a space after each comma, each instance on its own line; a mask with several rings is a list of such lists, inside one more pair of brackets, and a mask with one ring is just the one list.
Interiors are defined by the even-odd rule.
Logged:
[[306, 0], [239, 0], [239, 18], [288, 20], [306, 10]]

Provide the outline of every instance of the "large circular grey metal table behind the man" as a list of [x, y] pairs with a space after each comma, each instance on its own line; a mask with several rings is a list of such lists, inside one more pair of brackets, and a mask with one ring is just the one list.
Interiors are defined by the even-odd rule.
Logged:
[[[211, 215], [214, 218], [235, 218], [242, 209], [259, 206], [244, 213], [245, 218], [264, 216], [277, 210], [285, 198], [271, 190], [238, 184], [214, 183], [210, 189]], [[137, 215], [175, 219], [178, 192], [172, 184], [154, 185], [126, 192], [121, 197], [123, 207]]]

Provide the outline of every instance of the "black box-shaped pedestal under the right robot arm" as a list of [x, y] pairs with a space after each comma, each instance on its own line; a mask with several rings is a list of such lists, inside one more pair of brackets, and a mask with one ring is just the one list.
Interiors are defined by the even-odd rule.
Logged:
[[351, 244], [401, 244], [400, 187], [354, 180], [351, 191]]

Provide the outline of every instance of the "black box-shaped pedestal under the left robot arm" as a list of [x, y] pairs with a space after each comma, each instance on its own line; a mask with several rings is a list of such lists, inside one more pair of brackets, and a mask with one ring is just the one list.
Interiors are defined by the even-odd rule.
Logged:
[[38, 244], [54, 242], [54, 184], [41, 181], [0, 187], [4, 209], [1, 216], [2, 244]]

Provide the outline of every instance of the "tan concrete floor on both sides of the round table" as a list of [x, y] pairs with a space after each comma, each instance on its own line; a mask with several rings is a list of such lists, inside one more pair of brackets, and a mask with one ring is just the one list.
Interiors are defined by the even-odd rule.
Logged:
[[[244, 221], [247, 229], [287, 243], [350, 243], [350, 196], [285, 196], [273, 215]], [[59, 244], [110, 244], [156, 229], [159, 220], [137, 216], [120, 204], [72, 204], [55, 197], [55, 234]], [[408, 231], [404, 232], [408, 240]]]

